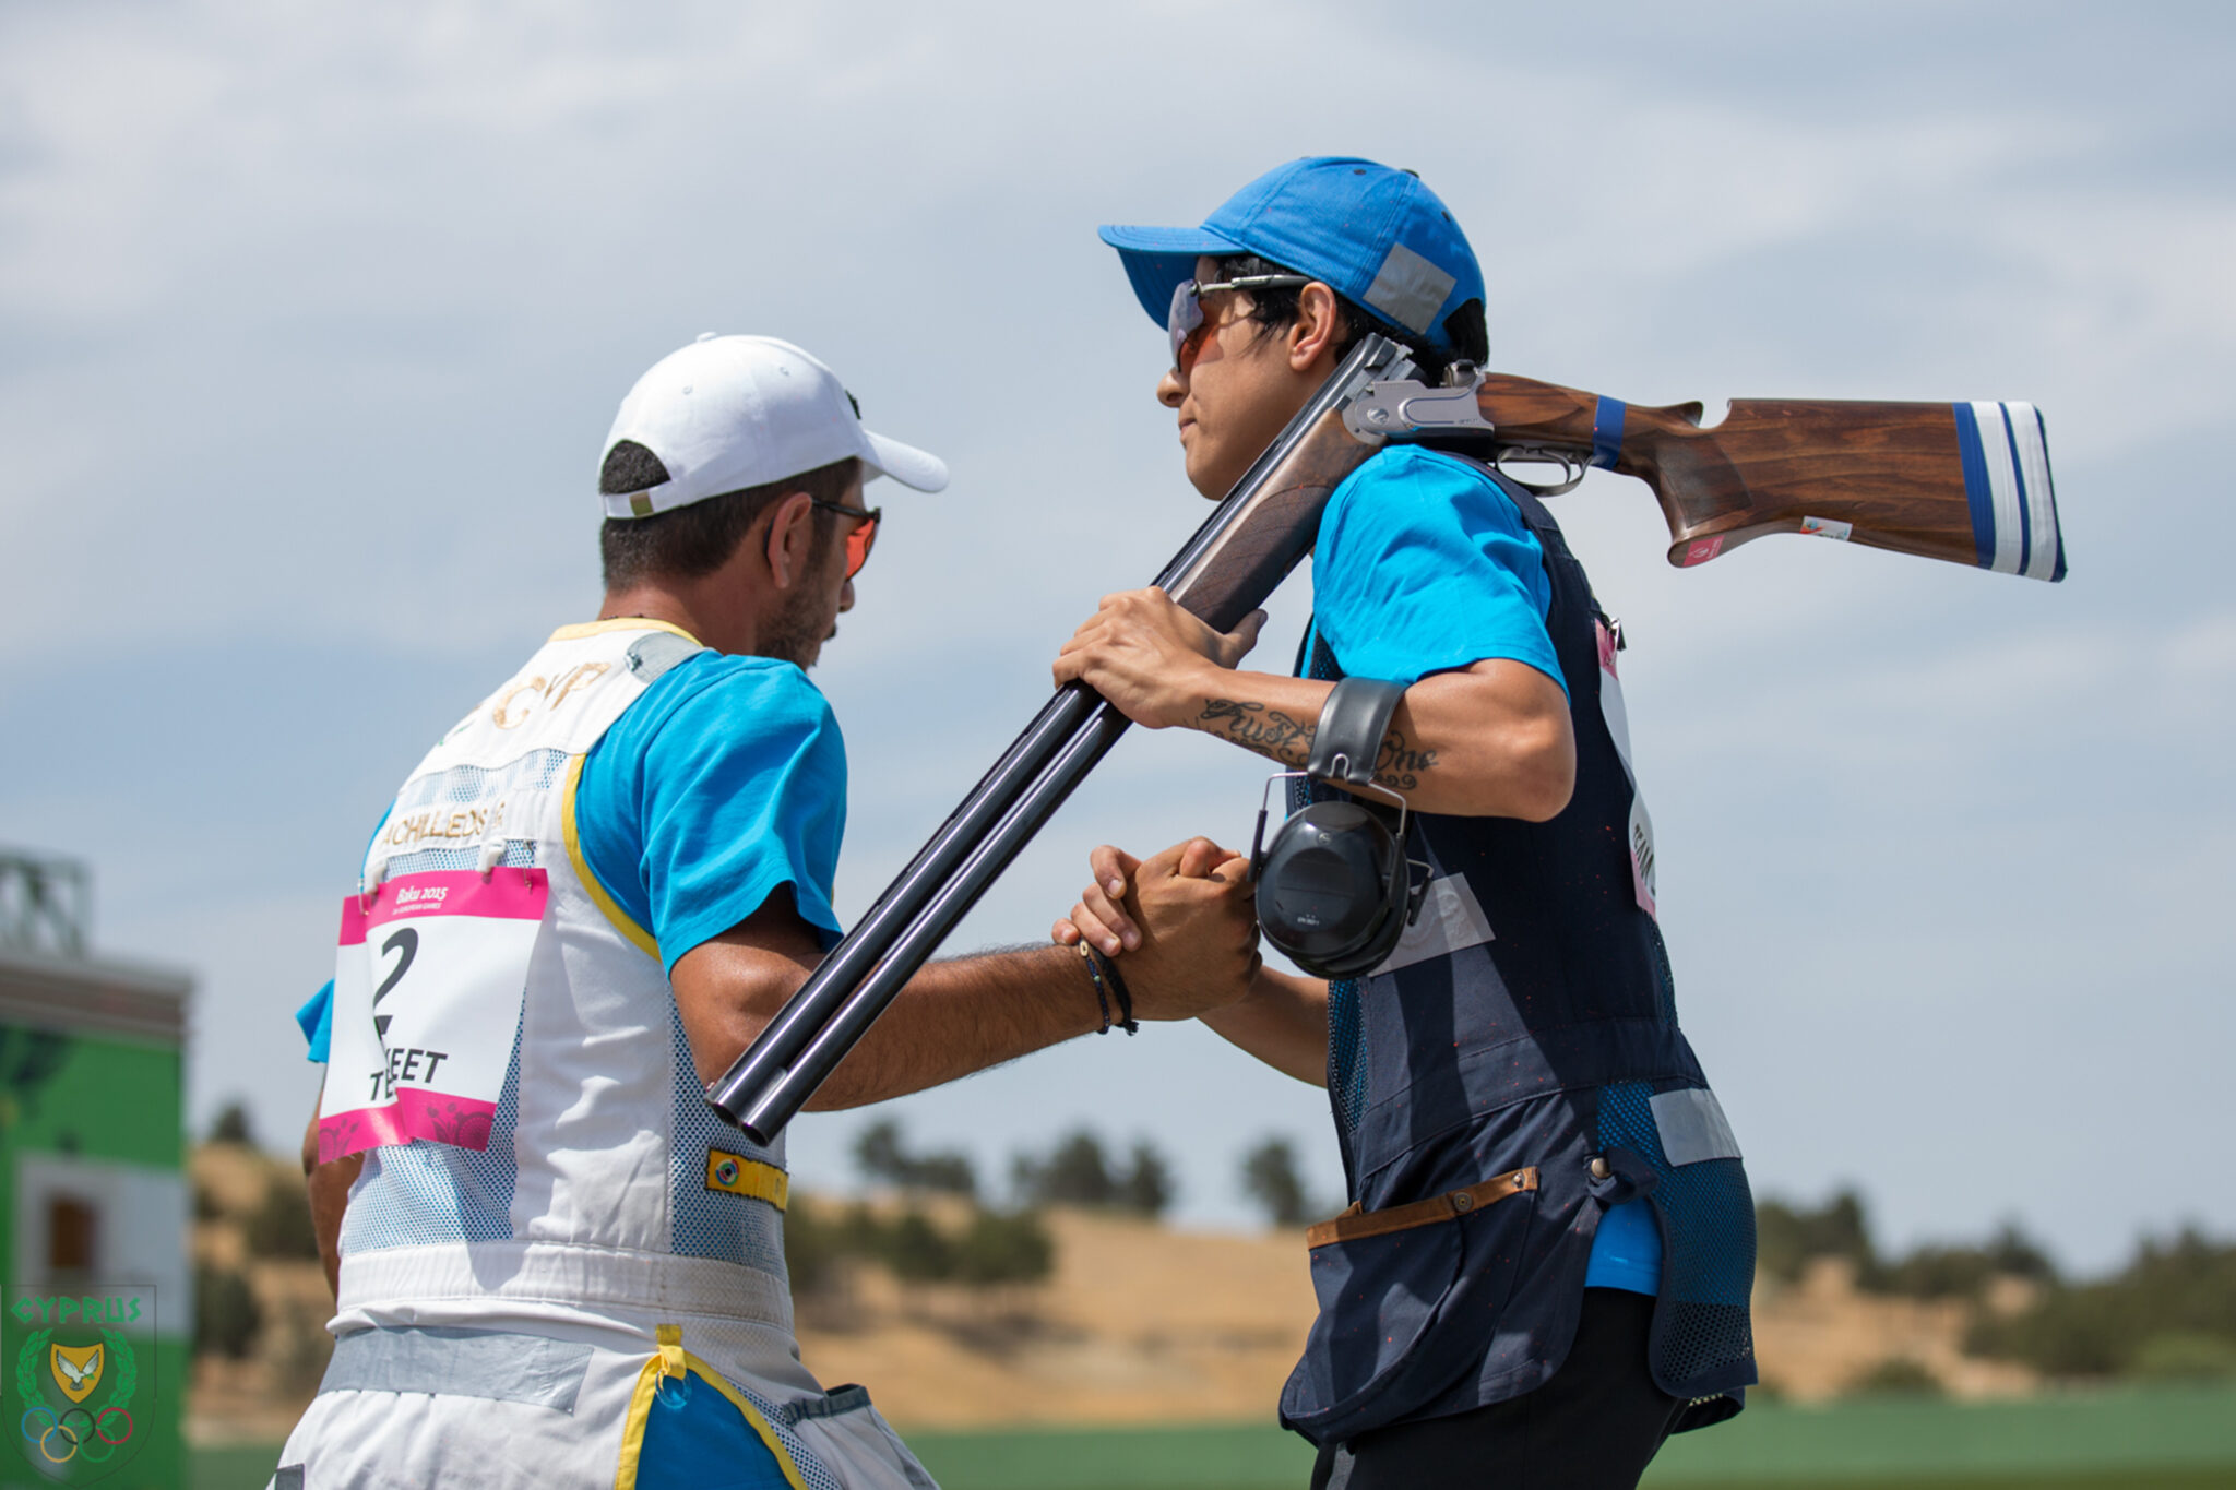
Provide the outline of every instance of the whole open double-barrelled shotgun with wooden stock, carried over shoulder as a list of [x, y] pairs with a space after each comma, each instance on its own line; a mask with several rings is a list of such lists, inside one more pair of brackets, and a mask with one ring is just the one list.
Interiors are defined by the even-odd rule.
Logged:
[[[1465, 364], [1427, 386], [1395, 342], [1366, 335], [1154, 583], [1234, 630], [1313, 550], [1335, 487], [1393, 436], [1500, 465], [1563, 465], [1563, 485], [1523, 483], [1541, 496], [1572, 489], [1590, 467], [1639, 476], [1668, 518], [1675, 565], [1807, 532], [2064, 579], [2030, 404], [1751, 400], [1713, 429], [1699, 413]], [[1125, 728], [1093, 688], [1058, 688], [707, 1101], [754, 1142], [774, 1142]]]

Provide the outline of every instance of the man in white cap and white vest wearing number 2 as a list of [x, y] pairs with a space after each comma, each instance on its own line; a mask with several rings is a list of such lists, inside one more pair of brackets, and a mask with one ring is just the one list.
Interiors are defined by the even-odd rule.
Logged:
[[[803, 1369], [783, 1142], [702, 1090], [839, 938], [845, 751], [805, 668], [854, 601], [877, 476], [948, 478], [785, 342], [700, 337], [622, 402], [597, 621], [407, 777], [300, 1016], [338, 1316], [277, 1488], [930, 1483], [861, 1387]], [[1254, 965], [1239, 867], [1178, 858], [1143, 885], [1140, 1019]], [[937, 963], [816, 1106], [1109, 1025], [1069, 949]]]

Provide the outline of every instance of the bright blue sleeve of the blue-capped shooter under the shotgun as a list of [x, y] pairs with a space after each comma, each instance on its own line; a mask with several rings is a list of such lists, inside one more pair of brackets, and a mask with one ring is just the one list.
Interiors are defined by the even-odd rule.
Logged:
[[1344, 672], [1415, 684], [1491, 657], [1567, 693], [1545, 632], [1545, 550], [1476, 465], [1391, 447], [1328, 498], [1313, 547], [1313, 623]]

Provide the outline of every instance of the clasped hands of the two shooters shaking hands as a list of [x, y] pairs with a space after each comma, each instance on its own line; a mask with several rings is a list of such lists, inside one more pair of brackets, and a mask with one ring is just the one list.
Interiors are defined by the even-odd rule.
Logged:
[[1245, 856], [1190, 838], [1145, 860], [1102, 844], [1087, 862], [1093, 882], [1053, 938], [1118, 963], [1136, 1019], [1196, 1019], [1252, 992], [1263, 958]]

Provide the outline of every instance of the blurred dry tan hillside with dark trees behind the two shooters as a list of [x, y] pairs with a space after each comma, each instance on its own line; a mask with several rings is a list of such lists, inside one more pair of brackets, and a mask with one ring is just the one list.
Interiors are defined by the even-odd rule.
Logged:
[[[331, 1314], [302, 1175], [246, 1128], [197, 1148], [190, 1432], [275, 1441], [318, 1389]], [[1277, 1144], [1239, 1184], [1281, 1222], [1310, 1204]], [[800, 1351], [906, 1427], [1263, 1421], [1313, 1320], [1301, 1229], [1176, 1231], [1172, 1184], [1089, 1133], [1020, 1155], [1008, 1204], [955, 1155], [872, 1128], [865, 1197], [796, 1193]], [[1313, 1211], [1317, 1213], [1317, 1209]], [[1883, 1255], [1860, 1197], [1757, 1209], [1764, 1396], [1961, 1401], [2086, 1381], [2236, 1381], [2236, 1247], [2144, 1242], [2066, 1280], [2017, 1231]]]

